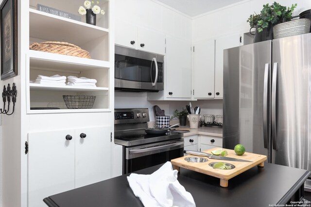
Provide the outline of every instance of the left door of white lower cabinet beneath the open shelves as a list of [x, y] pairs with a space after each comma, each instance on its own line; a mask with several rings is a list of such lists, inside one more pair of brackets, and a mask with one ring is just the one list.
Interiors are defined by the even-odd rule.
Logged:
[[29, 207], [46, 206], [43, 198], [74, 189], [74, 139], [74, 130], [28, 134]]

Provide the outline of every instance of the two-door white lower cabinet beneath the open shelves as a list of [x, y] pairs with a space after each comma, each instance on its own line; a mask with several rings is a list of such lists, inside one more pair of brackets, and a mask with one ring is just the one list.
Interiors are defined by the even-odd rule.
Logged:
[[111, 177], [110, 126], [28, 134], [28, 206]]

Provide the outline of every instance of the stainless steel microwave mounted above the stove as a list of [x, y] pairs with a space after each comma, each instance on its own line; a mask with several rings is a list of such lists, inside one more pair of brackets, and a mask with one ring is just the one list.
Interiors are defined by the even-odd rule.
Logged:
[[163, 84], [164, 56], [115, 46], [115, 90], [158, 92]]

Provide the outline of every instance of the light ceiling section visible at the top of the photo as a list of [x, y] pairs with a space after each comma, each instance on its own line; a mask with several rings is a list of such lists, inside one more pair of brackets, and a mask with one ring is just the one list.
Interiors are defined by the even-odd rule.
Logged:
[[190, 17], [195, 17], [242, 0], [158, 0]]

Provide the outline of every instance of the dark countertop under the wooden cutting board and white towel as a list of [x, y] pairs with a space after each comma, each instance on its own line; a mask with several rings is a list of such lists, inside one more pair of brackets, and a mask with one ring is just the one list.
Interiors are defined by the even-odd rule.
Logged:
[[[136, 173], [150, 174], [160, 166]], [[228, 188], [220, 187], [218, 178], [182, 168], [178, 181], [192, 194], [197, 207], [269, 207], [286, 204], [310, 174], [265, 163], [263, 168], [256, 166], [230, 179]], [[55, 194], [44, 201], [49, 207], [143, 207], [129, 187], [127, 175]]]

